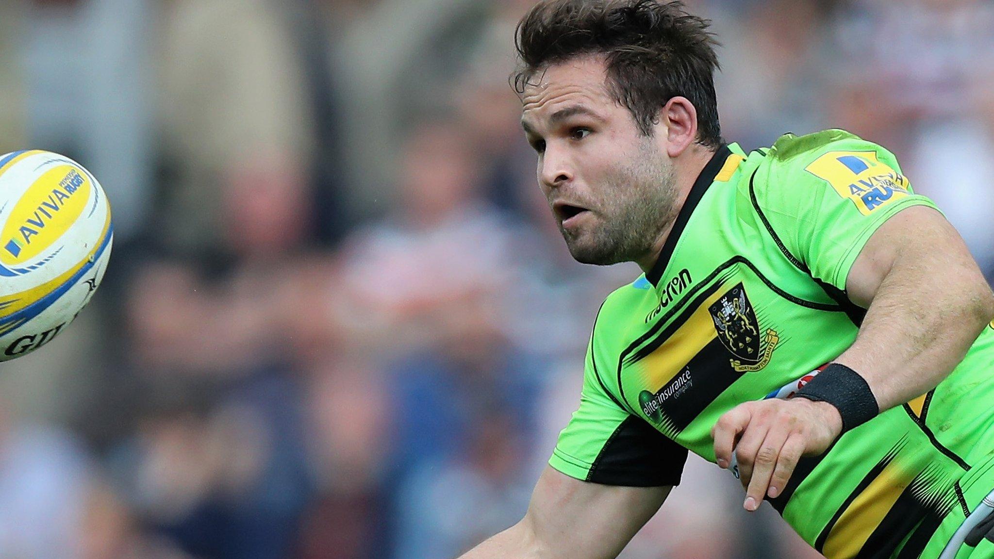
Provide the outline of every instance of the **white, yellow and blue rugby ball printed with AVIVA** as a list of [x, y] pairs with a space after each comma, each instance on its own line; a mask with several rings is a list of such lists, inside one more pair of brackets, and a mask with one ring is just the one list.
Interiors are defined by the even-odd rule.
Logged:
[[103, 278], [113, 228], [93, 175], [49, 151], [0, 156], [0, 361], [52, 341]]

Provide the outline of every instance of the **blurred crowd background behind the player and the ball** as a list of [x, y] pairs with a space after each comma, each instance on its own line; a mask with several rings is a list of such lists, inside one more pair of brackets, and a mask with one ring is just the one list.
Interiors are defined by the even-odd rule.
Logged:
[[[114, 254], [0, 375], [0, 558], [446, 559], [521, 517], [634, 265], [575, 264], [508, 86], [532, 0], [3, 0], [0, 152]], [[724, 135], [897, 153], [994, 277], [994, 5], [695, 0]], [[913, 234], [911, 234], [913, 235]], [[816, 556], [692, 459], [626, 559]]]

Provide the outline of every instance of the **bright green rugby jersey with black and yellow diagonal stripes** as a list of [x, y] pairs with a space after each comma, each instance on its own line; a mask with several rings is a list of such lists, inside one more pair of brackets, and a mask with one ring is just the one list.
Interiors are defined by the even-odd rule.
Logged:
[[[865, 309], [846, 296], [850, 268], [915, 205], [934, 207], [894, 155], [842, 130], [720, 149], [655, 267], [601, 306], [580, 408], [550, 465], [652, 486], [679, 483], [688, 450], [714, 462], [722, 414], [852, 344]], [[976, 504], [960, 485], [994, 454], [992, 362], [994, 324], [935, 390], [802, 459], [767, 500], [829, 559], [918, 556], [946, 514]]]

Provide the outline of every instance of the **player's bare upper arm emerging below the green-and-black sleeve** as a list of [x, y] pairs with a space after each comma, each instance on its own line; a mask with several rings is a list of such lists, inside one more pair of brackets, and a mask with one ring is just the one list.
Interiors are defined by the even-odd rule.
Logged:
[[547, 467], [516, 528], [541, 559], [612, 559], [655, 514], [671, 488], [591, 483]]

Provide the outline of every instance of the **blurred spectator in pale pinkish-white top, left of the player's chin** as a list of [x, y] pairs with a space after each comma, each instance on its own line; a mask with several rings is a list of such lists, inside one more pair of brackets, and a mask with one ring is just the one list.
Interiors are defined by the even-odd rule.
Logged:
[[418, 127], [406, 143], [397, 211], [346, 242], [340, 312], [369, 329], [370, 350], [430, 344], [492, 316], [512, 266], [509, 230], [480, 196], [471, 150], [456, 123]]

